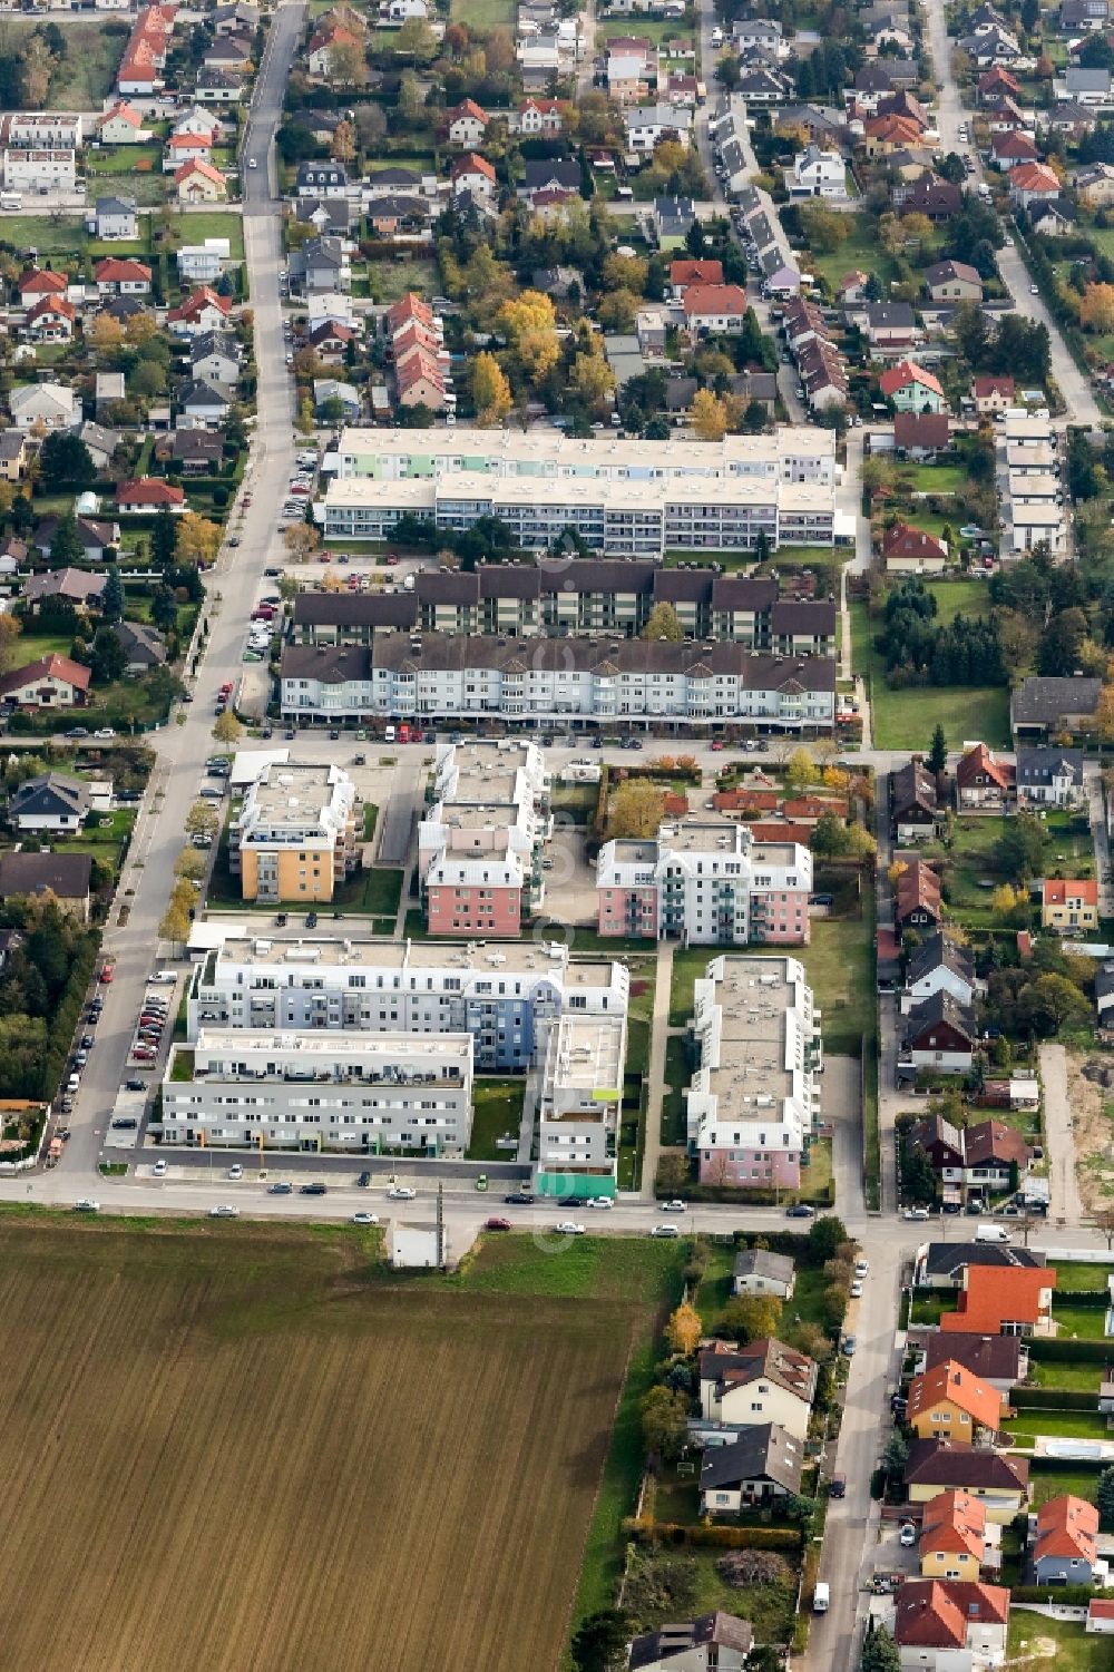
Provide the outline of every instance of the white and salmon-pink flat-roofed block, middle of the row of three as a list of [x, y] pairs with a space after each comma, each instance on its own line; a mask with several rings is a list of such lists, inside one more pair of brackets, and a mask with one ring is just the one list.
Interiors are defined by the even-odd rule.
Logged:
[[545, 900], [549, 776], [534, 742], [447, 744], [418, 828], [418, 881], [433, 935], [517, 935]]

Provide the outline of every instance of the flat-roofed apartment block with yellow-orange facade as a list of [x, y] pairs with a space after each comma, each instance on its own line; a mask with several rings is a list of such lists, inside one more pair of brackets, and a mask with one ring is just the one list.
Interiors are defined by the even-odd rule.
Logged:
[[338, 766], [269, 762], [229, 826], [244, 900], [328, 901], [356, 868], [356, 791]]

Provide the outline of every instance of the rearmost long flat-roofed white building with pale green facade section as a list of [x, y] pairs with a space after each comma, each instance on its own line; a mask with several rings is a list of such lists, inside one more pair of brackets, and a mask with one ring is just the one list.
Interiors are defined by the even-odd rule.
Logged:
[[341, 431], [343, 480], [405, 482], [415, 477], [534, 477], [547, 482], [672, 482], [684, 477], [729, 480], [759, 477], [835, 487], [831, 430], [779, 425], [769, 435], [726, 435], [723, 441], [672, 436], [642, 441], [619, 436], [572, 440], [557, 430], [366, 430]]

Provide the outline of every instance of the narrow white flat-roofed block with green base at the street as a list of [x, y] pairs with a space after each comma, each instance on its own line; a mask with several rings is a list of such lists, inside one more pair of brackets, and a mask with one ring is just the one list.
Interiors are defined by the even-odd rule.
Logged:
[[614, 1194], [626, 1057], [626, 1013], [565, 1013], [550, 1030], [537, 1110], [539, 1194]]

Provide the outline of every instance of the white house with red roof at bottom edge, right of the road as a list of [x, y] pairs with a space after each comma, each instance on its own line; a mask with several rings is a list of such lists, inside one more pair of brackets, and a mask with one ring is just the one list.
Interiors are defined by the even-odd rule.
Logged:
[[903, 1667], [927, 1672], [985, 1672], [1005, 1660], [1010, 1593], [1002, 1585], [963, 1580], [907, 1580], [893, 1612], [893, 1640]]

